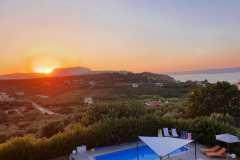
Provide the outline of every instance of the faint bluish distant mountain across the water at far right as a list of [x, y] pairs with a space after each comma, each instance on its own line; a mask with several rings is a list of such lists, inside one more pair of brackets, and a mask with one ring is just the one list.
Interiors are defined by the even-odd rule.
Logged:
[[175, 75], [180, 75], [180, 74], [219, 74], [219, 73], [236, 73], [236, 72], [240, 72], [240, 67], [183, 71], [183, 72], [174, 72], [174, 73], [170, 73], [170, 74], [175, 74]]

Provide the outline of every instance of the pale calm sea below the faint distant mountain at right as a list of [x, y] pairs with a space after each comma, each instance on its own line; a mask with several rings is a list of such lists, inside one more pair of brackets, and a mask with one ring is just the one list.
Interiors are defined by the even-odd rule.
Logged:
[[203, 81], [208, 80], [210, 83], [216, 83], [218, 81], [227, 81], [230, 83], [240, 82], [240, 72], [235, 73], [214, 73], [214, 74], [172, 74], [170, 75], [176, 80], [185, 82], [191, 81]]

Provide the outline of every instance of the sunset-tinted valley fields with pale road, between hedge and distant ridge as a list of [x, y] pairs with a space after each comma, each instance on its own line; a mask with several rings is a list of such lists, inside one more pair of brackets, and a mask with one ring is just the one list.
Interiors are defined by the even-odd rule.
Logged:
[[[0, 94], [7, 99], [0, 102], [0, 142], [27, 134], [50, 137], [81, 121], [96, 104], [161, 100], [161, 107], [172, 106], [181, 103], [194, 85], [150, 73], [1, 81]], [[52, 131], [45, 133], [51, 126]]]

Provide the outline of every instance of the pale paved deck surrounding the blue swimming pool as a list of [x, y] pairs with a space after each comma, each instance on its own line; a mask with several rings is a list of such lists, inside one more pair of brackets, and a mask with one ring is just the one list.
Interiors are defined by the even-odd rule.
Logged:
[[[143, 145], [143, 144], [139, 144], [139, 145]], [[112, 152], [116, 152], [116, 151], [120, 151], [120, 150], [125, 150], [128, 148], [133, 148], [136, 147], [137, 143], [126, 143], [126, 144], [121, 144], [121, 145], [116, 145], [116, 146], [110, 146], [110, 147], [103, 147], [103, 148], [99, 148], [96, 150], [92, 150], [92, 151], [88, 151], [87, 155], [88, 156], [82, 156], [79, 157], [78, 160], [95, 160], [94, 157], [95, 156], [99, 156], [99, 155], [104, 155], [104, 154], [108, 154], [108, 153], [112, 153]], [[180, 154], [174, 157], [170, 157], [170, 158], [164, 158], [164, 160], [194, 160], [195, 158], [195, 146], [194, 144], [190, 144], [188, 145], [188, 147], [190, 147], [190, 151], [184, 153], [184, 154]], [[201, 153], [201, 149], [204, 148], [203, 145], [197, 145], [197, 160], [224, 160], [222, 158], [208, 158], [205, 155], [203, 155]]]

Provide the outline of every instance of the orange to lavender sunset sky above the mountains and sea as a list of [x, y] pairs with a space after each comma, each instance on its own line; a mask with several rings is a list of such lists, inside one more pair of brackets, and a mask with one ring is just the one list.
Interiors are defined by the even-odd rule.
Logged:
[[0, 74], [240, 66], [239, 0], [0, 0]]

